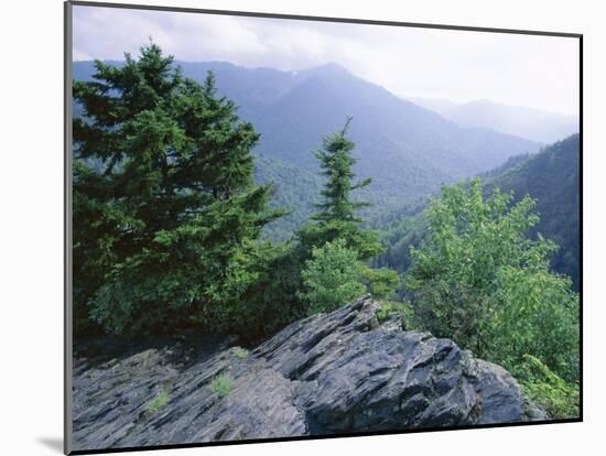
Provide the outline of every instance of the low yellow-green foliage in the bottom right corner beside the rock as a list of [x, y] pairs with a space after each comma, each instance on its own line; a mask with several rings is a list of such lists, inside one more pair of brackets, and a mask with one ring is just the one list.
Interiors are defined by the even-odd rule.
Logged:
[[578, 384], [564, 381], [531, 355], [524, 355], [522, 363], [511, 368], [529, 399], [543, 406], [552, 419], [578, 417]]

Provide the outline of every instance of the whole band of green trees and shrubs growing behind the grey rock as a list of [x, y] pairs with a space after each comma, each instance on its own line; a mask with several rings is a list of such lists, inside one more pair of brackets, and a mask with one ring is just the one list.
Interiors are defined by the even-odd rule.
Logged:
[[379, 318], [399, 313], [408, 329], [452, 338], [512, 371], [552, 416], [577, 414], [578, 296], [550, 270], [556, 246], [528, 236], [535, 200], [480, 180], [444, 186], [390, 231], [400, 274], [380, 268], [390, 261], [360, 217], [370, 180], [353, 172], [347, 119], [315, 152], [314, 214], [272, 242], [262, 231], [290, 208], [255, 183], [259, 134], [213, 74], [185, 78], [153, 44], [126, 57], [74, 83], [76, 338], [196, 327], [259, 339], [369, 292]]

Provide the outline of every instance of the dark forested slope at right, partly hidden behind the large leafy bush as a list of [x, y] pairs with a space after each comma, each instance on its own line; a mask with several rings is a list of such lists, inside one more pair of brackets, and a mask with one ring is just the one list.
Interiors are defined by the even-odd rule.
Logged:
[[[580, 138], [578, 134], [555, 142], [533, 155], [511, 159], [483, 175], [488, 194], [493, 187], [513, 192], [515, 200], [524, 195], [537, 199], [535, 211], [540, 222], [531, 236], [541, 234], [553, 240], [560, 250], [554, 254], [554, 271], [572, 278], [575, 290], [580, 285]], [[385, 242], [387, 251], [377, 260], [404, 271], [410, 265], [409, 250], [419, 246], [426, 230], [422, 210], [425, 202], [409, 205], [383, 217], [388, 226]]]

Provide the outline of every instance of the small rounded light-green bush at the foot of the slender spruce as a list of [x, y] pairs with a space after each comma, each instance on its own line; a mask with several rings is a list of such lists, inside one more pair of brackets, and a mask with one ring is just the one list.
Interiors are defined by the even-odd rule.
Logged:
[[358, 253], [343, 239], [314, 247], [301, 271], [304, 291], [300, 296], [307, 303], [309, 313], [334, 311], [364, 294], [366, 289], [358, 274]]

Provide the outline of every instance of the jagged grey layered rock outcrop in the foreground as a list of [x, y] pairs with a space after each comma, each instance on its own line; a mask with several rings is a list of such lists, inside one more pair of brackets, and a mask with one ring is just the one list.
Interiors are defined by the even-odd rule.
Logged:
[[379, 324], [378, 308], [365, 297], [250, 352], [230, 347], [185, 362], [167, 345], [79, 360], [74, 449], [547, 419], [501, 367], [397, 319]]

